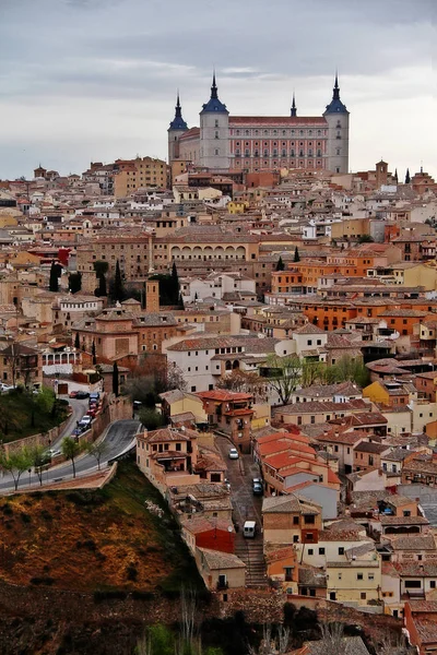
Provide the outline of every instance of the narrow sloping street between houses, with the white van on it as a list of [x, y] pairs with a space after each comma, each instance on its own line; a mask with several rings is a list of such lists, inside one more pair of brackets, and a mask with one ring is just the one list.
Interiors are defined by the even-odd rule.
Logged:
[[[262, 496], [253, 496], [252, 478], [260, 477], [258, 464], [251, 454], [239, 455], [239, 460], [229, 460], [231, 442], [224, 437], [215, 437], [217, 448], [227, 465], [227, 479], [231, 483], [234, 524], [238, 526], [235, 539], [235, 555], [247, 565], [246, 586], [267, 586], [265, 563], [262, 549]], [[245, 521], [256, 521], [258, 534], [255, 539], [243, 536]]]

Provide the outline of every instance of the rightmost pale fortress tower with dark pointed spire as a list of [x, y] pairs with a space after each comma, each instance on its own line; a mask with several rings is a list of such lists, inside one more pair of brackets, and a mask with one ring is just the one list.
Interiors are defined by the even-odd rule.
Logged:
[[327, 168], [331, 172], [347, 172], [349, 111], [340, 99], [339, 78], [336, 74], [332, 100], [327, 106], [323, 117], [328, 123]]

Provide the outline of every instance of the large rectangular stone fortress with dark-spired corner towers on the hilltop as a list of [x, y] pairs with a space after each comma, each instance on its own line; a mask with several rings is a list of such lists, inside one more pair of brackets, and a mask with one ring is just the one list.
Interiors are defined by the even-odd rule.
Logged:
[[321, 116], [232, 116], [221, 99], [213, 74], [211, 97], [200, 111], [200, 128], [189, 129], [179, 94], [168, 128], [168, 163], [214, 170], [249, 172], [300, 168], [349, 170], [349, 111], [340, 99], [338, 75], [332, 99]]

